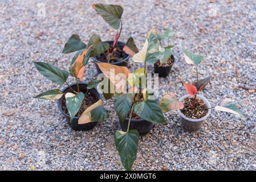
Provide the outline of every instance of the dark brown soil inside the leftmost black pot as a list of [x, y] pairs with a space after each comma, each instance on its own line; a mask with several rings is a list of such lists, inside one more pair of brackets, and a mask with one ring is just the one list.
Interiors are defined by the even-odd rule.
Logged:
[[[87, 91], [87, 90], [86, 90]], [[76, 117], [80, 117], [83, 114], [83, 111], [85, 111], [88, 107], [99, 101], [97, 97], [95, 97], [90, 91], [86, 94], [86, 91], [82, 91], [84, 93], [84, 100], [82, 101], [82, 105], [76, 113]], [[66, 98], [62, 100], [62, 110], [68, 114], [67, 106], [66, 106]]]

